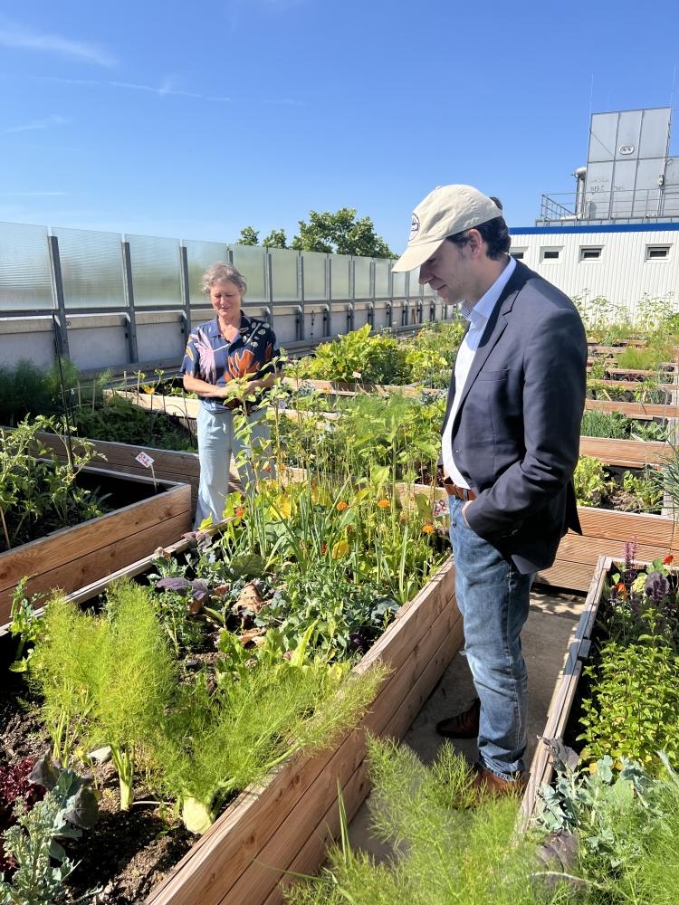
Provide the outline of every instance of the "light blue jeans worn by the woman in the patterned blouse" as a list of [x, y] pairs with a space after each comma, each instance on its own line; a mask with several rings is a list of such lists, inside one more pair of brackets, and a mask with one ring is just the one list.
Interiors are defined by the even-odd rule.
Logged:
[[[254, 482], [261, 475], [255, 475], [251, 465], [253, 452], [268, 450], [269, 427], [263, 422], [265, 409], [259, 409], [248, 416], [251, 427], [249, 440], [234, 433], [234, 416], [231, 412], [216, 412], [214, 407], [201, 400], [198, 409], [198, 456], [200, 458], [200, 484], [196, 508], [196, 530], [200, 523], [212, 515], [213, 521], [224, 518], [226, 494], [229, 492], [229, 469], [234, 455], [238, 474], [246, 491], [254, 492]], [[252, 448], [251, 448], [252, 447]], [[266, 477], [275, 477], [273, 460], [267, 462], [272, 469]]]

